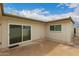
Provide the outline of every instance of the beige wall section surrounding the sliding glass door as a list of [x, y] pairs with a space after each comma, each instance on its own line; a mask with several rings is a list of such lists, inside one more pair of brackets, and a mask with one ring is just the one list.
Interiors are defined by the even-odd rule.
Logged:
[[45, 38], [45, 23], [23, 20], [12, 17], [2, 17], [0, 18], [0, 23], [2, 24], [2, 48], [9, 46], [9, 24], [25, 24], [31, 25], [31, 40], [20, 43], [20, 45], [26, 45], [28, 42], [33, 40], [39, 40]]

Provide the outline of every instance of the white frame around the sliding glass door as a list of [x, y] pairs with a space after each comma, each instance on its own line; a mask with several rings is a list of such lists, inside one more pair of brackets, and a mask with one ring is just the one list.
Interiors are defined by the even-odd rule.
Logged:
[[[9, 40], [10, 40], [10, 37], [9, 37], [9, 26], [10, 25], [21, 25], [22, 26], [22, 42], [19, 42], [19, 43], [14, 43], [14, 44], [9, 44]], [[18, 23], [8, 23], [8, 46], [12, 46], [12, 45], [16, 45], [16, 44], [22, 44], [23, 42], [26, 42], [26, 41], [23, 41], [23, 26], [30, 26], [31, 27], [31, 40], [32, 40], [32, 25], [30, 24], [18, 24]], [[28, 40], [28, 41], [31, 41], [31, 40]]]

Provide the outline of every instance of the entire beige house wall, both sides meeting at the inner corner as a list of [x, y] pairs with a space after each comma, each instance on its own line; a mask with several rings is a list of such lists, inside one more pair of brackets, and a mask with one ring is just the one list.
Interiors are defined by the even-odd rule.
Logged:
[[[2, 48], [6, 48], [9, 45], [9, 24], [25, 24], [31, 25], [31, 40], [19, 43], [21, 46], [27, 45], [29, 42], [33, 40], [44, 39], [45, 37], [57, 40], [57, 41], [64, 41], [67, 43], [71, 42], [73, 37], [73, 23], [70, 20], [66, 21], [58, 21], [58, 22], [51, 22], [51, 23], [43, 23], [43, 22], [36, 22], [30, 20], [24, 20], [19, 18], [12, 18], [12, 17], [5, 17], [0, 16], [0, 24], [1, 24], [1, 41], [2, 41]], [[62, 31], [61, 32], [53, 32], [50, 31], [50, 25], [54, 24], [61, 24]]]

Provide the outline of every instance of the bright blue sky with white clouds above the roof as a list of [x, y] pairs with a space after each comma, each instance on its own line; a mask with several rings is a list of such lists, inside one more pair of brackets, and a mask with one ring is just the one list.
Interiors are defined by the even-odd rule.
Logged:
[[71, 16], [79, 23], [78, 3], [5, 3], [4, 12], [45, 22]]

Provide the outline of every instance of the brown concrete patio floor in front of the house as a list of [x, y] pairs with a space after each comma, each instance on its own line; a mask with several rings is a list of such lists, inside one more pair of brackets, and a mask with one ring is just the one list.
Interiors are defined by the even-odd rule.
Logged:
[[2, 56], [79, 56], [79, 48], [51, 40], [0, 52]]

